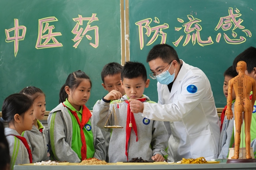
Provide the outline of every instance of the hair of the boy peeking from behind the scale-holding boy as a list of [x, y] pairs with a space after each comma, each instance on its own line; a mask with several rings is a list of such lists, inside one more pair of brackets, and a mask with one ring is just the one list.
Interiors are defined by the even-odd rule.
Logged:
[[108, 63], [106, 65], [104, 65], [102, 71], [101, 71], [101, 80], [103, 83], [104, 82], [104, 78], [106, 76], [114, 76], [116, 74], [119, 74], [122, 71], [122, 65], [116, 62], [112, 62], [112, 63]]

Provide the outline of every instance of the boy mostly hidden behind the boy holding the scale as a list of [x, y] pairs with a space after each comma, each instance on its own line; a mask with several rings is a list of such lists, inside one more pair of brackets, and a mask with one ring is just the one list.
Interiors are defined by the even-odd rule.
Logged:
[[[101, 80], [102, 86], [105, 90], [111, 92], [112, 90], [119, 91], [122, 95], [125, 94], [124, 89], [121, 87], [121, 71], [122, 65], [116, 62], [111, 62], [102, 68], [101, 71]], [[106, 162], [109, 162], [109, 141], [110, 141], [110, 132], [106, 132], [101, 130], [104, 138], [105, 138], [105, 146], [106, 146]]]

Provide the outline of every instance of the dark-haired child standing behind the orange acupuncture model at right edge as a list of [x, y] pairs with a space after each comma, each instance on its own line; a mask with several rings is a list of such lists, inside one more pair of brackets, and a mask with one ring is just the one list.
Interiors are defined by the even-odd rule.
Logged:
[[[247, 69], [245, 70], [245, 74], [256, 80], [256, 48], [253, 46], [250, 46], [245, 51], [240, 53], [233, 61], [233, 69], [236, 69], [237, 63], [239, 61], [246, 62]], [[243, 126], [242, 128], [244, 129], [244, 124], [242, 126]], [[254, 103], [252, 116], [251, 116], [250, 135], [251, 135], [251, 147], [253, 147], [254, 156], [256, 158], [256, 142], [254, 140], [256, 138], [256, 102]], [[245, 141], [245, 133], [243, 131], [241, 131], [240, 148], [245, 147], [245, 142], [242, 142], [242, 141]]]

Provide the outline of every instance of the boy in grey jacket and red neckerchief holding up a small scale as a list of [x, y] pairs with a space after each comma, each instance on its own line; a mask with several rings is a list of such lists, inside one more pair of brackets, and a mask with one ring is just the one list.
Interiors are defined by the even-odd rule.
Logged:
[[[119, 91], [112, 90], [94, 105], [93, 119], [99, 128], [104, 129], [107, 121], [108, 125], [115, 125], [115, 119], [123, 127], [112, 130], [110, 162], [124, 162], [135, 157], [155, 161], [166, 159], [168, 135], [163, 122], [144, 118], [141, 113], [133, 114], [130, 110], [131, 100], [152, 103], [143, 94], [144, 88], [149, 84], [150, 80], [147, 79], [146, 68], [142, 63], [126, 62], [121, 72], [121, 85], [126, 94], [122, 96]], [[111, 102], [120, 98], [121, 100]]]

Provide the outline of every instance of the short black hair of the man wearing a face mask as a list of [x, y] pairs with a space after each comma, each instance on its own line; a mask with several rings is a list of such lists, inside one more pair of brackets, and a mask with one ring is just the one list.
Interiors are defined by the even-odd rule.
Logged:
[[176, 60], [180, 63], [180, 59], [174, 47], [168, 44], [157, 44], [153, 46], [146, 57], [146, 62], [148, 63], [157, 58], [162, 59], [165, 63], [170, 63], [172, 60]]

